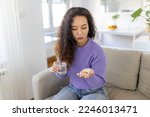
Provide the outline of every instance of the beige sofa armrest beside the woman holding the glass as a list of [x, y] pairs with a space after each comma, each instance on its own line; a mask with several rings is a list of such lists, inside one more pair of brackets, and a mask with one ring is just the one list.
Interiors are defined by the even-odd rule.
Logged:
[[32, 77], [33, 97], [35, 100], [46, 99], [55, 95], [61, 87], [68, 84], [68, 78], [58, 79], [55, 73], [46, 69]]

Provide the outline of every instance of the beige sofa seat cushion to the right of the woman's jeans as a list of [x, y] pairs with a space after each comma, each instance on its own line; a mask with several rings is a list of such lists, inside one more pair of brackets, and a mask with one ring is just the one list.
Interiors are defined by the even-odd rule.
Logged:
[[115, 87], [106, 87], [110, 100], [149, 100], [148, 97], [138, 91], [124, 90]]

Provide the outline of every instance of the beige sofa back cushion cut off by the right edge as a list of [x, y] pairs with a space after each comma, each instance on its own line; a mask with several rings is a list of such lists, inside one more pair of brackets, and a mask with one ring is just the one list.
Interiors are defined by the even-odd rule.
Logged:
[[147, 52], [142, 53], [138, 90], [150, 98], [150, 53]]

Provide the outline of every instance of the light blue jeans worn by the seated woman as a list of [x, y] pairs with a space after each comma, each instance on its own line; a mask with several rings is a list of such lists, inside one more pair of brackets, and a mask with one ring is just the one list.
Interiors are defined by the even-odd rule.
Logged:
[[98, 89], [77, 89], [73, 85], [64, 87], [53, 100], [107, 100], [107, 92], [104, 87]]

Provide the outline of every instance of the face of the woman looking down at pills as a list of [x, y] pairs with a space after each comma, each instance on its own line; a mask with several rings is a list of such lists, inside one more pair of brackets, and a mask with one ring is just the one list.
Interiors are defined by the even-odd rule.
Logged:
[[72, 34], [77, 46], [83, 46], [88, 41], [89, 25], [85, 16], [75, 16], [72, 22]]

